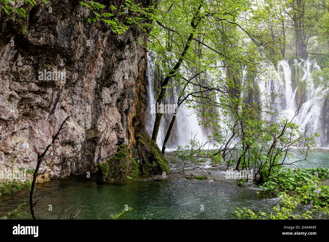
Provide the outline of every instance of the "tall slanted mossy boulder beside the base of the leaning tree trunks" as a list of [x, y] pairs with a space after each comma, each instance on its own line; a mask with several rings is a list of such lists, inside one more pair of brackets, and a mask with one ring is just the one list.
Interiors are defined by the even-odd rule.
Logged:
[[146, 132], [137, 134], [136, 141], [141, 174], [152, 175], [169, 171], [168, 161]]

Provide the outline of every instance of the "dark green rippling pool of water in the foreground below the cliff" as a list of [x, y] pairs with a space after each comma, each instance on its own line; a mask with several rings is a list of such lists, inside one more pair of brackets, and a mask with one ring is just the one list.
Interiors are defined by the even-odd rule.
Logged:
[[[318, 153], [313, 162], [328, 167], [328, 157], [329, 151]], [[310, 167], [307, 164], [304, 166]], [[95, 174], [91, 174], [91, 178], [72, 176], [37, 184], [36, 214], [40, 219], [58, 219], [58, 209], [63, 211], [73, 205], [70, 213], [81, 210], [77, 219], [96, 219], [97, 216], [110, 219], [111, 214], [128, 205], [133, 210], [126, 212], [123, 219], [236, 219], [233, 209], [237, 207], [270, 211], [279, 203], [278, 198], [257, 194], [256, 189], [258, 187], [253, 184], [239, 187], [236, 181], [191, 180], [169, 175], [164, 178], [140, 176], [107, 184], [96, 183]], [[0, 216], [12, 211], [20, 202], [28, 201], [27, 189], [11, 196], [0, 196]], [[306, 209], [310, 207], [302, 206], [297, 212]], [[23, 211], [29, 213], [29, 206]], [[31, 215], [22, 218], [29, 219]], [[313, 214], [313, 218], [329, 216]]]

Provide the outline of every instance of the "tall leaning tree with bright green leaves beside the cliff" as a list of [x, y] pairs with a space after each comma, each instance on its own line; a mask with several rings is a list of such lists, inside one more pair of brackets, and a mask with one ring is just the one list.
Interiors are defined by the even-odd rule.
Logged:
[[[269, 57], [268, 60], [275, 59], [275, 49], [268, 35], [265, 34], [267, 30], [254, 26], [257, 21], [254, 21], [253, 17], [246, 17], [246, 15], [252, 16], [251, 12], [254, 11], [251, 2], [233, 1], [223, 5], [217, 0], [210, 2], [166, 0], [155, 4], [155, 12], [152, 16], [155, 26], [149, 35], [148, 48], [156, 53], [157, 63], [165, 73], [156, 97], [159, 105], [165, 95], [170, 94], [170, 88], [180, 86], [184, 90], [186, 84], [190, 85], [188, 80], [192, 80], [197, 73], [213, 71], [214, 66], [209, 64], [214, 60], [215, 63], [223, 62], [226, 68], [234, 72], [244, 68], [256, 71], [262, 65], [260, 60], [263, 57], [259, 51], [263, 51], [263, 54]], [[251, 43], [243, 44], [245, 38]], [[204, 87], [209, 89], [208, 92], [204, 90], [202, 96], [190, 99], [188, 106], [193, 106], [191, 104], [193, 101], [200, 101], [206, 93], [209, 94], [209, 91], [217, 86], [198, 86], [199, 89]], [[196, 87], [186, 90], [191, 90], [190, 93], [195, 94]], [[218, 89], [217, 91], [220, 92]], [[179, 98], [184, 99], [184, 95], [179, 95]], [[153, 140], [157, 138], [162, 116], [161, 112], [156, 114]], [[174, 120], [175, 118], [172, 122]], [[170, 134], [170, 130], [168, 131], [167, 134]], [[168, 137], [165, 140], [167, 139]]]

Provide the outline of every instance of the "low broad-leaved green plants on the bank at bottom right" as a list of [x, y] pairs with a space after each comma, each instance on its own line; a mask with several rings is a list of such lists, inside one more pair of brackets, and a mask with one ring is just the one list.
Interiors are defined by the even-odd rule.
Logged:
[[[278, 195], [283, 207], [273, 207], [273, 212], [266, 214], [260, 211], [258, 214], [243, 207], [234, 210], [239, 218], [250, 219], [311, 219], [312, 212], [329, 213], [329, 187], [319, 186], [319, 179], [314, 176], [317, 173], [322, 178], [327, 178], [327, 168], [286, 169], [276, 168], [261, 187], [269, 194]], [[319, 191], [318, 195], [316, 190]], [[314, 202], [314, 207], [302, 215], [293, 215], [293, 209], [301, 204]]]

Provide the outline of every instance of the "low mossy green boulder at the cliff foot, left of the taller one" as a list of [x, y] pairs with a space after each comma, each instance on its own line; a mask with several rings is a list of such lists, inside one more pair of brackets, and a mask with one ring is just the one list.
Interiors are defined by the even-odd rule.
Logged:
[[126, 145], [120, 145], [112, 158], [97, 167], [98, 182], [125, 180], [139, 175], [138, 164], [132, 150]]

